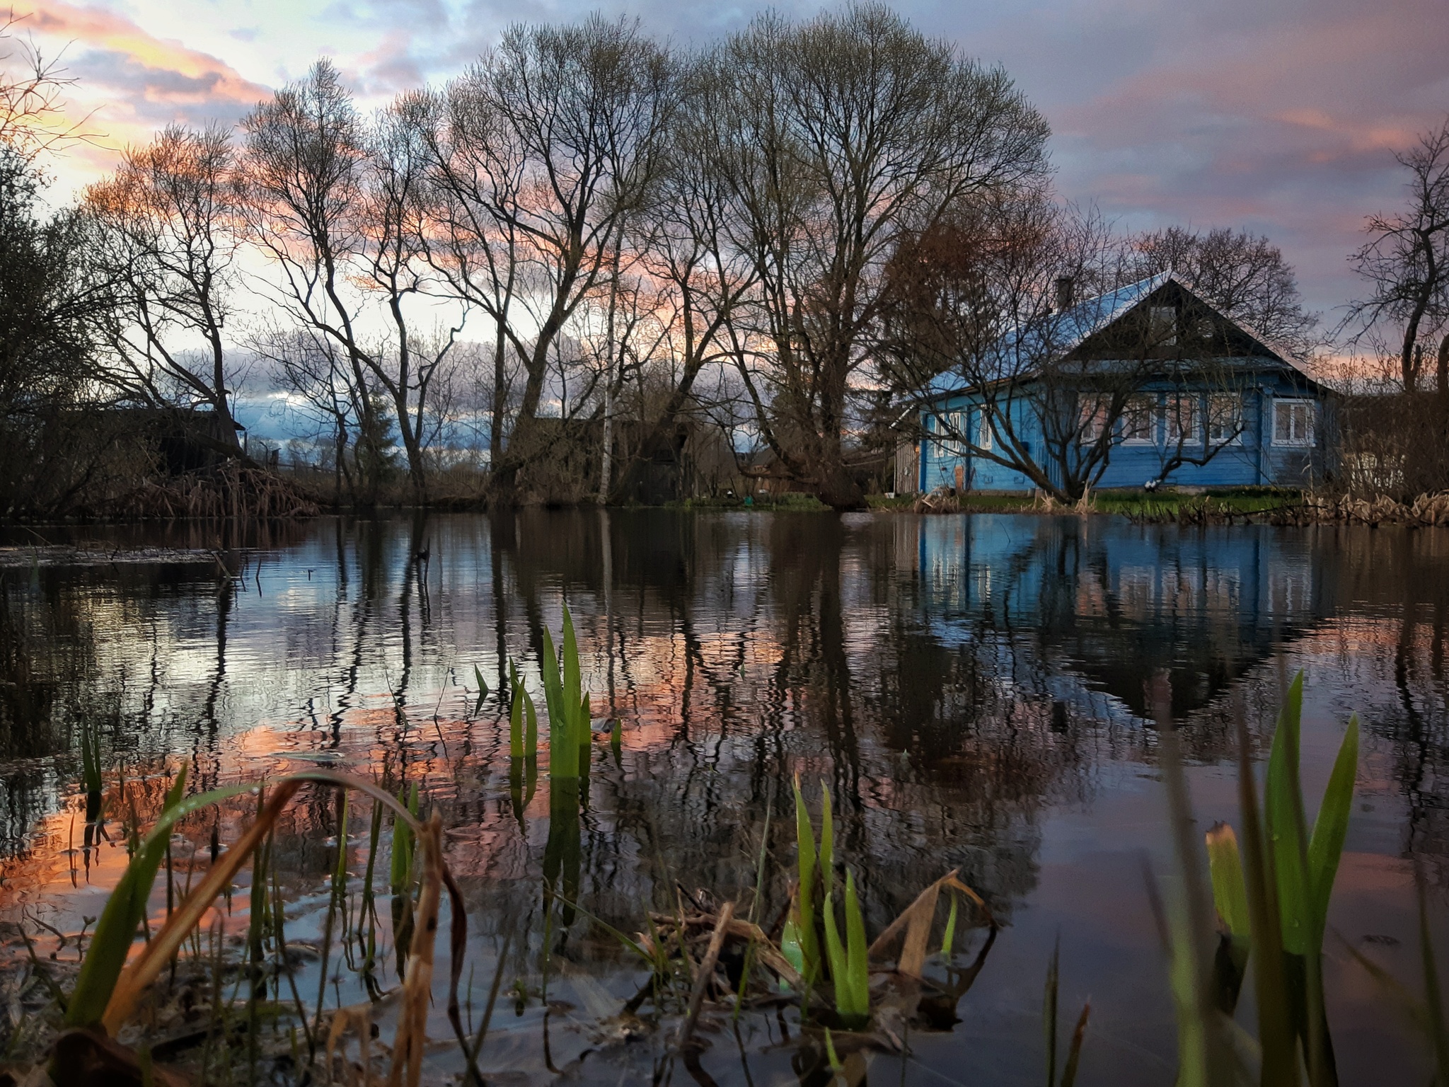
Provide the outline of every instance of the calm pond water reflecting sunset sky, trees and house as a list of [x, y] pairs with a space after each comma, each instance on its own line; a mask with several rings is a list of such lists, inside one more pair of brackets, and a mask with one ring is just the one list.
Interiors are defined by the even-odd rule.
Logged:
[[[503, 955], [480, 1058], [490, 1081], [546, 1083], [551, 1068], [600, 1084], [823, 1081], [784, 1015], [706, 1016], [691, 1068], [665, 1061], [662, 1036], [620, 1041], [601, 1025], [646, 971], [590, 920], [638, 932], [648, 910], [701, 888], [752, 901], [762, 841], [755, 909], [775, 916], [798, 775], [813, 804], [817, 783], [830, 791], [868, 932], [952, 868], [1003, 925], [958, 1022], [913, 1033], [909, 1058], [872, 1057], [871, 1083], [1039, 1083], [1059, 941], [1062, 1017], [1093, 1006], [1078, 1083], [1168, 1084], [1175, 1036], [1146, 872], [1166, 878], [1171, 854], [1148, 691], [1166, 675], [1206, 828], [1237, 817], [1236, 707], [1264, 754], [1303, 670], [1310, 813], [1349, 715], [1365, 728], [1326, 945], [1342, 1081], [1429, 1078], [1349, 948], [1420, 984], [1416, 857], [1440, 942], [1449, 928], [1449, 532], [526, 512], [320, 519], [236, 539], [38, 529], [6, 544], [0, 919], [57, 962], [126, 864], [122, 826], [149, 825], [170, 774], [184, 765], [203, 788], [320, 762], [393, 793], [417, 783], [442, 813], [468, 901], [474, 1022]], [[593, 746], [572, 839], [551, 819], [546, 770], [514, 803], [497, 694], [511, 657], [542, 707], [542, 632], [558, 635], [565, 601], [596, 730], [620, 722], [617, 751]], [[491, 688], [481, 701], [475, 668]], [[97, 825], [83, 725], [106, 775]], [[326, 913], [341, 816], [335, 793], [303, 797], [277, 844], [298, 941]], [[191, 857], [204, 868], [213, 828], [235, 838], [249, 803], [190, 820], [177, 871]], [[365, 810], [349, 815], [356, 878], [368, 835]], [[564, 929], [545, 930], [545, 875], [584, 912]], [[158, 883], [152, 917], [164, 913]], [[959, 968], [984, 939], [958, 941]], [[23, 954], [17, 936], [7, 946]], [[329, 1001], [359, 999], [348, 984]], [[449, 1036], [440, 1017], [429, 1029]], [[440, 1042], [430, 1061], [439, 1078], [461, 1070]]]

